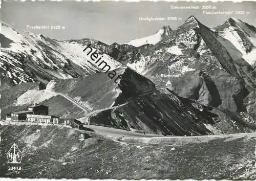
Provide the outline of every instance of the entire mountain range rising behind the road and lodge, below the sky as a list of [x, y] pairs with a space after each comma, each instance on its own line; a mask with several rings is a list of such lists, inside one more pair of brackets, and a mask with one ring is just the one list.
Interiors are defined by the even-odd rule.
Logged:
[[[165, 26], [111, 45], [58, 41], [1, 25], [0, 93], [11, 93], [0, 101], [2, 117], [38, 100], [54, 115], [72, 111], [88, 121], [55, 94], [61, 93], [91, 110], [104, 109], [89, 118], [94, 123], [175, 135], [255, 129], [256, 28], [239, 19], [208, 28], [190, 16], [176, 30]], [[87, 61], [82, 50], [89, 43], [122, 75], [121, 88]], [[30, 83], [38, 81], [44, 86]], [[164, 88], [167, 81], [172, 90]]]

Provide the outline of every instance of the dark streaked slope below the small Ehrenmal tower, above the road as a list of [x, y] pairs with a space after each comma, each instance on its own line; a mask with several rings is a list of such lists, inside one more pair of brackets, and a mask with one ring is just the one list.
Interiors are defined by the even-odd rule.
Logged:
[[256, 128], [241, 116], [180, 98], [166, 89], [144, 94], [126, 105], [102, 111], [92, 117], [90, 123], [167, 135], [227, 134], [252, 132]]

